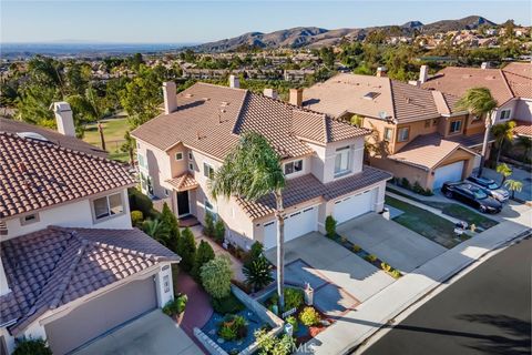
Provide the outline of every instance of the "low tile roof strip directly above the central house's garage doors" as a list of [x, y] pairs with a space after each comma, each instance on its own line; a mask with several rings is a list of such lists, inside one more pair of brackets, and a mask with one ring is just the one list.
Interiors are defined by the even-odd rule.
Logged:
[[[283, 204], [287, 209], [314, 199], [329, 201], [389, 179], [391, 179], [390, 173], [370, 166], [364, 166], [362, 172], [352, 176], [338, 179], [325, 184], [313, 174], [307, 174], [286, 182], [283, 191]], [[252, 220], [264, 217], [275, 212], [275, 199], [273, 195], [264, 196], [257, 201], [237, 199], [237, 203]]]

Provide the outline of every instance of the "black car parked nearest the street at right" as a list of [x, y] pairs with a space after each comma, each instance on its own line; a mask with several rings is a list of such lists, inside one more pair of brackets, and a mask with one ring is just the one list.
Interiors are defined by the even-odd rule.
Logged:
[[471, 183], [446, 182], [441, 192], [447, 197], [469, 204], [482, 213], [499, 213], [502, 210], [502, 203], [488, 195], [484, 189]]

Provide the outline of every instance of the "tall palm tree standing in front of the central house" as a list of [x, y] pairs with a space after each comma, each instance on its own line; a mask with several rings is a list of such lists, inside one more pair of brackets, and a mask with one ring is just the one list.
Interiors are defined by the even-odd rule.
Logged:
[[279, 310], [285, 306], [285, 211], [283, 207], [283, 189], [285, 175], [279, 155], [266, 139], [255, 132], [244, 133], [238, 144], [227, 154], [222, 168], [216, 171], [209, 184], [211, 193], [216, 200], [238, 196], [256, 201], [263, 196], [275, 196], [277, 220], [277, 294]]

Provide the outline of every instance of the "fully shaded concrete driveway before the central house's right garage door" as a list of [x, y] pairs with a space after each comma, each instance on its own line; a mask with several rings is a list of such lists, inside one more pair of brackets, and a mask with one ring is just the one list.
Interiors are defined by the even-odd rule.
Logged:
[[338, 225], [337, 232], [402, 273], [447, 252], [446, 247], [378, 213], [347, 221]]

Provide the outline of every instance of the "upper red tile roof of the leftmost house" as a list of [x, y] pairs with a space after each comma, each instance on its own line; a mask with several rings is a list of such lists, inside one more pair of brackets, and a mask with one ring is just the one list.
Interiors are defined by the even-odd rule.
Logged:
[[0, 219], [135, 184], [123, 165], [0, 132]]

